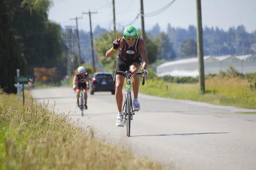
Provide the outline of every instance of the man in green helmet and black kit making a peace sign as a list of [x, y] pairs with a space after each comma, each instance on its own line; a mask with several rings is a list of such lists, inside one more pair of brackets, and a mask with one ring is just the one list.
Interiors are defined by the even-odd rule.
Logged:
[[[126, 71], [138, 72], [142, 64], [142, 70], [146, 71], [148, 66], [148, 57], [147, 51], [145, 48], [144, 40], [137, 35], [137, 30], [133, 26], [128, 26], [123, 31], [123, 37], [121, 36], [118, 39], [116, 34], [116, 40], [113, 42], [113, 47], [109, 49], [106, 53], [106, 57], [111, 57], [114, 53], [118, 51], [118, 57], [116, 59], [116, 70], [117, 71]], [[145, 77], [148, 76], [146, 71]], [[140, 79], [138, 75], [133, 76], [132, 88], [134, 92], [134, 111], [140, 111], [140, 103], [138, 101], [138, 93], [140, 87]], [[123, 74], [116, 74], [116, 104], [118, 108], [118, 116], [116, 119], [116, 126], [122, 126], [122, 88], [124, 84], [125, 76]]]

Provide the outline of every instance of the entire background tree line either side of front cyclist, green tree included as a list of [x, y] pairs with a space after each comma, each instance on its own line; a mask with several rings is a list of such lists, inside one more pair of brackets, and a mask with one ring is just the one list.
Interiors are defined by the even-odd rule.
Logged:
[[[166, 31], [160, 31], [158, 23], [146, 32], [146, 45], [150, 61], [174, 60], [197, 56], [196, 27], [190, 25], [186, 28], [174, 28], [170, 24]], [[140, 31], [140, 30], [139, 30]], [[122, 35], [122, 32], [117, 32]], [[113, 31], [96, 26], [93, 31], [95, 37], [96, 63], [113, 68], [114, 59], [105, 59], [105, 51], [111, 47], [113, 42]], [[203, 29], [204, 55], [242, 55], [256, 53], [256, 31], [248, 33], [243, 25], [230, 27], [224, 31], [218, 27], [207, 27]], [[81, 44], [83, 46], [82, 58], [91, 60], [89, 32], [81, 31]], [[149, 47], [151, 45], [151, 47]], [[153, 47], [154, 46], [154, 47]], [[153, 47], [153, 48], [152, 48]], [[110, 65], [108, 65], [108, 63]], [[112, 64], [112, 65], [111, 65]]]

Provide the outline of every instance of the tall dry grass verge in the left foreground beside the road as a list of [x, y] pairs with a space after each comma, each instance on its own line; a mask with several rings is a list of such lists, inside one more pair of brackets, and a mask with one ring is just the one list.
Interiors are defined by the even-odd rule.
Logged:
[[65, 121], [67, 116], [49, 112], [48, 106], [33, 105], [29, 91], [25, 97], [23, 106], [17, 95], [0, 91], [0, 169], [163, 169], [95, 140], [93, 133], [82, 133]]

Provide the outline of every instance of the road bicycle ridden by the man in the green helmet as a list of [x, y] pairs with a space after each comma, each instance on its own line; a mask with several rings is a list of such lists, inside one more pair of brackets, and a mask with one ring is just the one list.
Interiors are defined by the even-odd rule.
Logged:
[[[124, 114], [124, 119], [122, 121], [122, 127], [125, 126], [126, 124], [126, 136], [130, 137], [131, 134], [131, 120], [133, 120], [133, 115], [134, 113], [134, 108], [133, 108], [133, 104], [132, 104], [132, 100], [131, 100], [131, 78], [135, 75], [135, 74], [139, 74], [139, 75], [145, 75], [146, 71], [140, 71], [137, 73], [133, 73], [131, 71], [116, 71], [114, 70], [114, 81], [113, 83], [116, 83], [116, 73], [122, 73], [125, 75], [126, 78], [126, 92], [125, 92], [125, 102], [124, 105], [122, 107], [122, 111]], [[146, 78], [143, 77], [143, 81], [142, 81], [142, 85], [145, 84]]]

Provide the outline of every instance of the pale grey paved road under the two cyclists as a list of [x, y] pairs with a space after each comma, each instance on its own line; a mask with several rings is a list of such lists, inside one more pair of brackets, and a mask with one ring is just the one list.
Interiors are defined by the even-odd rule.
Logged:
[[126, 127], [116, 127], [117, 108], [109, 92], [89, 95], [88, 110], [81, 117], [71, 88], [32, 90], [43, 103], [49, 99], [58, 113], [69, 113], [71, 122], [93, 128], [97, 139], [127, 147], [137, 156], [147, 156], [182, 170], [256, 170], [255, 111], [209, 105], [187, 100], [165, 99], [140, 94], [141, 111]]

